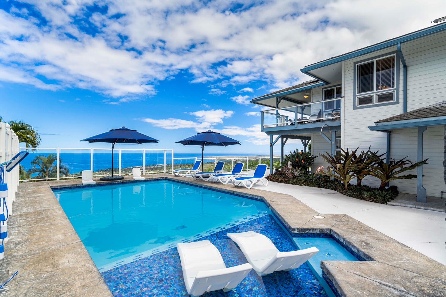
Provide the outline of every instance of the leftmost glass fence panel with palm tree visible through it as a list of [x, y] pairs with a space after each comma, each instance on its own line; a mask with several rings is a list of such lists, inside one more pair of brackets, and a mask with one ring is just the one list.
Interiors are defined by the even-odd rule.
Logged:
[[[25, 150], [21, 150], [25, 151]], [[57, 149], [38, 149], [20, 162], [20, 179], [57, 179]]]

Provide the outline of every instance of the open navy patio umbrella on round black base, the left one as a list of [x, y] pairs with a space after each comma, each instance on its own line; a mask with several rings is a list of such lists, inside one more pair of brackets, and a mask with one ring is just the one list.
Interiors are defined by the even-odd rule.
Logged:
[[92, 136], [90, 138], [82, 139], [81, 141], [92, 142], [109, 142], [111, 143], [111, 177], [101, 177], [101, 180], [119, 180], [124, 179], [123, 176], [113, 177], [113, 148], [115, 143], [147, 143], [147, 142], [159, 142], [159, 140], [152, 138], [150, 136], [144, 135], [142, 133], [136, 132], [136, 130], [131, 130], [126, 127], [119, 129], [111, 129], [108, 132]]

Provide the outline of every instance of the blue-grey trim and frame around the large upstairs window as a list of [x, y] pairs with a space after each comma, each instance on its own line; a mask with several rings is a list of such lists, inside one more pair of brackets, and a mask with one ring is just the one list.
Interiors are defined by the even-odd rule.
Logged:
[[[368, 62], [368, 61], [374, 61], [376, 59], [379, 59], [381, 57], [387, 57], [387, 56], [395, 56], [395, 89], [386, 89], [386, 90], [379, 90], [379, 91], [373, 91], [373, 92], [368, 92], [363, 94], [363, 96], [372, 96], [375, 94], [380, 94], [380, 93], [390, 93], [390, 92], [395, 92], [395, 101], [392, 102], [383, 102], [383, 103], [376, 103], [376, 104], [371, 104], [371, 105], [360, 105], [360, 106], [356, 106], [356, 97], [357, 96], [362, 96], [362, 94], [356, 94], [356, 71], [357, 71], [357, 65], [358, 64], [362, 64], [364, 62]], [[373, 69], [373, 75], [375, 76], [375, 69]], [[375, 77], [373, 78], [373, 81], [375, 81]], [[375, 85], [373, 85], [373, 88], [375, 88]], [[395, 105], [395, 104], [399, 104], [400, 100], [399, 100], [399, 96], [400, 96], [400, 57], [397, 55], [397, 52], [389, 52], [389, 53], [385, 53], [376, 57], [371, 57], [368, 59], [364, 59], [361, 61], [357, 61], [355, 63], [353, 63], [353, 109], [363, 109], [363, 108], [371, 108], [371, 107], [376, 107], [376, 106], [387, 106], [387, 105]]]

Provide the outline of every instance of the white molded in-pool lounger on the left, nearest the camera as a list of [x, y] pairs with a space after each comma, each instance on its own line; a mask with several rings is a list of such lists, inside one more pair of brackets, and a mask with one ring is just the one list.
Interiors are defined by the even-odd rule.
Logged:
[[231, 291], [251, 271], [251, 264], [226, 268], [219, 250], [209, 240], [177, 244], [187, 293], [197, 297], [205, 292]]

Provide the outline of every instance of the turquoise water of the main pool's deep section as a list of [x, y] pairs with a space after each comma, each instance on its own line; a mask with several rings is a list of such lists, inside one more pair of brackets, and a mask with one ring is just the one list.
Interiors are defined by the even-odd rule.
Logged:
[[54, 194], [100, 271], [268, 213], [261, 201], [167, 180]]

